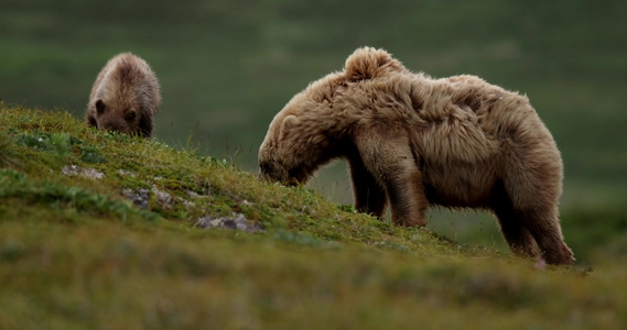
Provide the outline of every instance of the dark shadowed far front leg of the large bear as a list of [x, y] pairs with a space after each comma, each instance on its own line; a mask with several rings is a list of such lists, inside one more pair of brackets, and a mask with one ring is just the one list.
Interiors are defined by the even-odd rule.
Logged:
[[350, 178], [353, 179], [353, 191], [355, 194], [355, 208], [359, 212], [380, 218], [388, 202], [386, 190], [368, 172], [359, 156], [352, 157], [348, 163], [350, 166]]

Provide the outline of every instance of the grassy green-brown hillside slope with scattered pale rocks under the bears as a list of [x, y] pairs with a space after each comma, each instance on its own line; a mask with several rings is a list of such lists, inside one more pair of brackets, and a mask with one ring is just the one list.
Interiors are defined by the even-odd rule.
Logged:
[[626, 273], [539, 270], [0, 103], [0, 329], [619, 329]]

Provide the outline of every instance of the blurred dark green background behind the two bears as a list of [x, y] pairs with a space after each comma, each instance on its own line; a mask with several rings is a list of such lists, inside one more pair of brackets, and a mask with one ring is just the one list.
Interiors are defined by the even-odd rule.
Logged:
[[[359, 46], [434, 77], [472, 74], [529, 96], [565, 164], [562, 222], [580, 260], [627, 254], [627, 2], [0, 1], [0, 98], [83, 118], [121, 52], [156, 72], [155, 136], [257, 170], [268, 124]], [[350, 204], [346, 168], [311, 187]], [[462, 243], [504, 249], [494, 219], [430, 212]]]

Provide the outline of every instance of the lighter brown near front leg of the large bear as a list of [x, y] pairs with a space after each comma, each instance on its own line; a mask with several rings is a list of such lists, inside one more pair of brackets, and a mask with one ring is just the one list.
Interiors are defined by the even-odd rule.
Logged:
[[418, 168], [404, 130], [370, 130], [357, 140], [365, 167], [376, 178], [390, 201], [392, 221], [403, 226], [426, 226], [429, 201], [422, 173]]

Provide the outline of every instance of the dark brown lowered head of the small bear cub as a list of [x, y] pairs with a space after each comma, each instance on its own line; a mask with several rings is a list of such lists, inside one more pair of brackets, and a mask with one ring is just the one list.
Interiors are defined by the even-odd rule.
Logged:
[[90, 105], [94, 110], [87, 112], [87, 123], [101, 131], [149, 138], [152, 133], [152, 122], [140, 107], [134, 103], [105, 102], [104, 99], [97, 99]]

